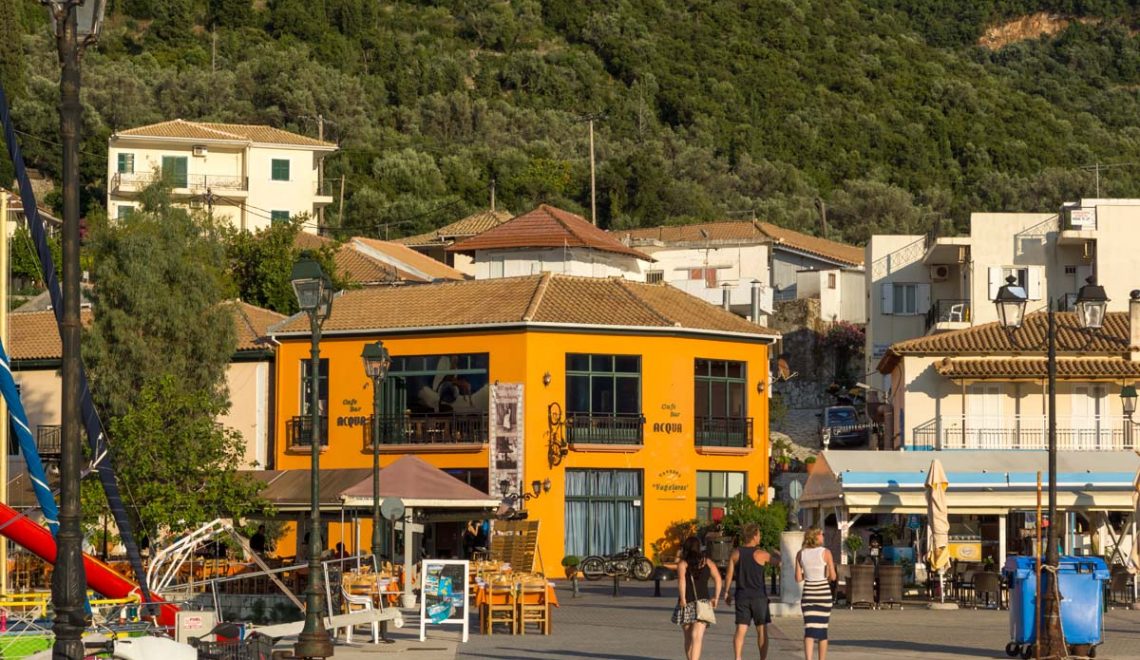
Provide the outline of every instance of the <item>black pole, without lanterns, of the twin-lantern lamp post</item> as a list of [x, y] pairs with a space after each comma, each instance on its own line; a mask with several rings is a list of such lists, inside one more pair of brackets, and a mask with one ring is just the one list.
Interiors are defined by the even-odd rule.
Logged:
[[[1048, 325], [1045, 328], [1047, 347], [1047, 369], [1049, 375], [1049, 532], [1045, 537], [1045, 564], [1051, 569], [1049, 572], [1049, 588], [1044, 593], [1044, 626], [1042, 634], [1037, 636], [1041, 658], [1065, 658], [1068, 650], [1065, 649], [1064, 635], [1061, 633], [1060, 612], [1060, 585], [1058, 584], [1057, 567], [1060, 557], [1057, 553], [1057, 318], [1053, 311], [1053, 301], [1049, 300], [1049, 311], [1047, 313]], [[1040, 523], [1040, 521], [1039, 521]]]

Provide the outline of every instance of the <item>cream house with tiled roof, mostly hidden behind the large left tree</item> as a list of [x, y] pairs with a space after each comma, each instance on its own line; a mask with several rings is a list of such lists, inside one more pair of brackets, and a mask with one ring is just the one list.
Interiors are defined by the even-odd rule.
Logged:
[[[284, 316], [237, 302], [234, 326], [237, 351], [226, 372], [230, 409], [219, 422], [237, 431], [245, 441], [242, 467], [269, 467], [272, 457], [272, 342], [266, 339], [270, 325]], [[82, 311], [82, 320], [91, 321], [91, 310]], [[44, 461], [59, 457], [59, 360], [62, 348], [55, 313], [48, 311], [13, 312], [8, 317], [11, 370], [19, 386], [27, 421]], [[112, 438], [112, 442], [114, 439]], [[24, 470], [18, 450], [9, 449], [11, 472]]]

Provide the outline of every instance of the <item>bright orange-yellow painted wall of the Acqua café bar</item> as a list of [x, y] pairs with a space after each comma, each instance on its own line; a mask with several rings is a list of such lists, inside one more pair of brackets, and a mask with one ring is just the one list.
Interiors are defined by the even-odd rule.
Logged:
[[[279, 337], [280, 339], [280, 337]], [[325, 337], [321, 357], [329, 359], [329, 447], [321, 467], [367, 467], [360, 426], [339, 426], [337, 417], [372, 414], [372, 390], [364, 375], [360, 351], [365, 342], [381, 339], [392, 356], [479, 353], [490, 355], [489, 380], [524, 383], [523, 482], [549, 479], [551, 492], [527, 503], [531, 520], [540, 520], [539, 548], [547, 572], [559, 572], [563, 555], [564, 488], [567, 468], [624, 468], [643, 471], [644, 546], [658, 540], [669, 523], [697, 514], [697, 471], [747, 473], [752, 497], [767, 494], [768, 398], [767, 345], [724, 337], [677, 337], [659, 334], [586, 334], [580, 332], [515, 331], [432, 336]], [[642, 357], [642, 410], [645, 416], [644, 445], [630, 453], [571, 450], [562, 463], [547, 461], [547, 407], [565, 405], [565, 355], [616, 353]], [[306, 468], [307, 453], [288, 453], [285, 425], [300, 413], [300, 360], [308, 358], [308, 339], [282, 339], [277, 357], [277, 448], [278, 470]], [[693, 361], [697, 358], [739, 360], [747, 364], [748, 415], [752, 418], [754, 448], [741, 455], [698, 453], [693, 443]], [[543, 384], [549, 372], [551, 384]], [[757, 383], [764, 382], [763, 393]], [[679, 432], [654, 430], [654, 424], [681, 424]], [[475, 453], [423, 453], [424, 461], [447, 468], [486, 468], [486, 447]], [[399, 455], [381, 456], [388, 465]], [[676, 471], [671, 474], [669, 471]], [[662, 488], [654, 488], [654, 487]], [[666, 488], [667, 487], [667, 488]], [[492, 484], [494, 489], [494, 484]], [[497, 495], [497, 494], [496, 494]], [[335, 525], [334, 525], [335, 527]], [[345, 537], [350, 536], [348, 530]], [[360, 538], [368, 546], [370, 527], [365, 521]], [[329, 530], [331, 539], [340, 537]], [[292, 552], [292, 540], [282, 539], [283, 554]], [[351, 548], [351, 544], [350, 544]]]

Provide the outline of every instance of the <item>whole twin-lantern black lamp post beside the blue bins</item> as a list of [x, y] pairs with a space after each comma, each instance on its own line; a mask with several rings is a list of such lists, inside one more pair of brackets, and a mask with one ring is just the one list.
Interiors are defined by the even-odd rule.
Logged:
[[[1018, 345], [1016, 331], [1021, 327], [1025, 320], [1025, 305], [1028, 296], [1025, 288], [1017, 284], [1017, 278], [1005, 278], [1005, 284], [997, 290], [994, 304], [997, 307], [997, 318], [1009, 341]], [[1086, 331], [1097, 331], [1104, 326], [1105, 310], [1108, 307], [1108, 296], [1105, 288], [1098, 286], [1093, 278], [1088, 279], [1088, 284], [1081, 287], [1076, 298], [1076, 317], [1081, 327]], [[1045, 548], [1045, 564], [1053, 575], [1050, 579], [1050, 588], [1043, 597], [1044, 602], [1044, 625], [1041, 634], [1037, 635], [1039, 658], [1066, 658], [1068, 650], [1065, 649], [1065, 637], [1061, 634], [1060, 613], [1060, 588], [1057, 580], [1057, 567], [1060, 557], [1057, 552], [1057, 319], [1053, 310], [1053, 301], [1049, 301], [1045, 327], [1045, 356], [1049, 388], [1049, 532]], [[1091, 335], [1089, 337], [1091, 341]], [[1020, 347], [1028, 348], [1028, 347]], [[1041, 588], [1039, 584], [1039, 588]], [[1040, 614], [1039, 614], [1040, 616]]]

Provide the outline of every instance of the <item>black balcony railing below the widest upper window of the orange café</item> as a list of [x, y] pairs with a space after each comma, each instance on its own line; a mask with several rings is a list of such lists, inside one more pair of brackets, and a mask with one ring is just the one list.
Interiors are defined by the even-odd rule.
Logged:
[[[373, 422], [365, 422], [364, 451], [372, 453]], [[478, 451], [487, 445], [487, 413], [381, 415], [380, 451]]]

